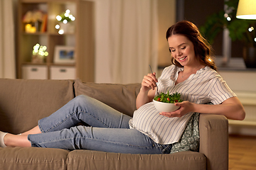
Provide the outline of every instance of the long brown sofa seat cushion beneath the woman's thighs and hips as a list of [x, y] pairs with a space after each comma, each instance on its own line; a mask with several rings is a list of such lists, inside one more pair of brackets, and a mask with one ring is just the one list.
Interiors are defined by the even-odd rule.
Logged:
[[175, 154], [117, 154], [75, 150], [68, 154], [68, 169], [206, 169], [206, 157], [198, 152]]

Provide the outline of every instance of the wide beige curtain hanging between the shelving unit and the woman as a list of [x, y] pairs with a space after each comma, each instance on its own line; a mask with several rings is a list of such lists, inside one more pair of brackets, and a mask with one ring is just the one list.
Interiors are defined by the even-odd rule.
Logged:
[[156, 0], [96, 1], [96, 82], [140, 83], [157, 71]]

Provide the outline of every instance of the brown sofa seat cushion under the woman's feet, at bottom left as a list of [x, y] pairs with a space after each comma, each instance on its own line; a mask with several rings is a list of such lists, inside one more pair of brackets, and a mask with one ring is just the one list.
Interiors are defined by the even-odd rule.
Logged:
[[68, 151], [37, 147], [0, 148], [0, 169], [67, 169]]

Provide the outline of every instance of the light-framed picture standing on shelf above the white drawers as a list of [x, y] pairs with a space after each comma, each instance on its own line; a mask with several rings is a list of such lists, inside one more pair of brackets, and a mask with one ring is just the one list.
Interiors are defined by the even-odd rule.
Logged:
[[54, 50], [54, 63], [75, 64], [75, 47], [56, 45]]

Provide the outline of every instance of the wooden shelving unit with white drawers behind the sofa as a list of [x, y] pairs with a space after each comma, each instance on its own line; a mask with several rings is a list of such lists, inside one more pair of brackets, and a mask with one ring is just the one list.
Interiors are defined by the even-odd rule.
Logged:
[[[59, 23], [56, 20], [56, 16], [65, 12], [66, 9], [70, 9], [70, 13], [75, 16], [75, 21], [72, 21], [75, 31], [74, 33], [60, 35], [55, 28], [55, 25]], [[37, 30], [36, 33], [26, 33], [23, 17], [28, 11], [43, 11], [43, 13], [47, 14], [47, 28], [45, 32], [42, 33], [40, 30]], [[95, 75], [94, 30], [93, 1], [19, 0], [17, 78], [80, 78], [82, 81], [93, 82]], [[33, 63], [31, 60], [33, 46], [37, 43], [47, 47], [48, 56], [45, 62]], [[75, 64], [54, 62], [55, 47], [58, 45], [75, 47]]]

